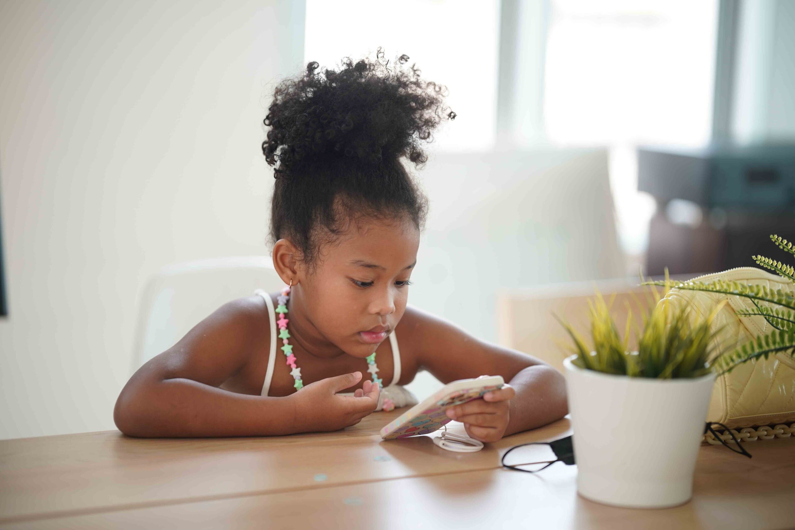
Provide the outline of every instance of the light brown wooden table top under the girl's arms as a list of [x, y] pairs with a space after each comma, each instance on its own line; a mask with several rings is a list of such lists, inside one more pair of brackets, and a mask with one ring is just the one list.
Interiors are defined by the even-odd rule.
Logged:
[[[2, 528], [792, 528], [795, 437], [703, 446], [694, 497], [619, 509], [576, 494], [576, 466], [502, 469], [510, 447], [571, 433], [568, 419], [487, 444], [383, 441], [401, 410], [354, 427], [275, 438], [132, 439], [118, 431], [0, 442]], [[450, 424], [462, 432], [463, 425]], [[544, 446], [519, 451], [545, 460]], [[497, 525], [494, 527], [494, 525]]]

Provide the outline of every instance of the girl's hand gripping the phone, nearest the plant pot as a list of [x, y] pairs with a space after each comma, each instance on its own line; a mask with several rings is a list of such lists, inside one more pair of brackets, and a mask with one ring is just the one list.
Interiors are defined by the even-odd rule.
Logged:
[[514, 387], [502, 385], [502, 389], [483, 394], [483, 399], [447, 409], [452, 420], [463, 423], [463, 428], [476, 440], [496, 442], [505, 434], [510, 420], [509, 401], [516, 395]]

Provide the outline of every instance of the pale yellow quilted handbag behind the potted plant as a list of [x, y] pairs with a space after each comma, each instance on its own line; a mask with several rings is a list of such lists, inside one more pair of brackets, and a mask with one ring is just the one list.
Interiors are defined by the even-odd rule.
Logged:
[[[795, 292], [795, 285], [791, 281], [754, 267], [738, 267], [693, 280], [735, 280], [766, 285], [773, 290]], [[772, 329], [762, 316], [735, 314], [735, 311], [754, 309], [753, 303], [741, 296], [673, 288], [666, 297], [672, 300], [672, 304], [689, 302], [702, 315], [720, 300], [728, 299], [728, 304], [720, 310], [712, 324], [714, 327], [725, 326], [721, 348], [716, 350], [716, 354], [733, 350]], [[795, 432], [795, 424], [789, 427], [785, 425], [795, 422], [795, 360], [786, 353], [771, 354], [766, 359], [743, 363], [718, 377], [712, 389], [707, 420], [724, 424], [735, 432], [742, 429], [741, 438], [745, 439], [756, 439], [759, 433], [762, 433], [762, 438], [789, 437]], [[773, 427], [752, 428], [760, 425]]]

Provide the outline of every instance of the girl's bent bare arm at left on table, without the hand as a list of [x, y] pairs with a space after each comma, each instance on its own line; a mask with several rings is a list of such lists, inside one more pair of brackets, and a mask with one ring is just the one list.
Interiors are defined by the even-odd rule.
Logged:
[[[259, 296], [257, 296], [259, 298]], [[224, 304], [146, 362], [116, 400], [114, 422], [143, 437], [282, 435], [296, 431], [295, 400], [217, 388], [262, 338], [262, 304]]]

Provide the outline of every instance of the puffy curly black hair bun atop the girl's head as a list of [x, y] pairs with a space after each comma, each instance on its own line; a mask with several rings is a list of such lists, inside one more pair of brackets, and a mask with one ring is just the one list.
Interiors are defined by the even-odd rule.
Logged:
[[377, 164], [405, 156], [416, 166], [428, 157], [420, 141], [444, 118], [456, 113], [444, 106], [444, 85], [420, 79], [409, 56], [390, 66], [378, 48], [376, 60], [343, 59], [339, 70], [307, 64], [301, 77], [285, 79], [273, 91], [263, 121], [270, 126], [262, 153], [276, 176], [301, 164], [329, 157], [352, 157]]

